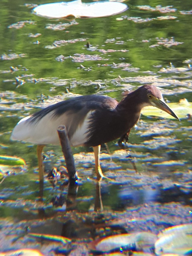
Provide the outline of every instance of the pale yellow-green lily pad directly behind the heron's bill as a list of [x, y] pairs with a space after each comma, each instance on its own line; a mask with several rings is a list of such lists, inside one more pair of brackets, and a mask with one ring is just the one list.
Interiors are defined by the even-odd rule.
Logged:
[[[188, 102], [187, 99], [181, 99], [179, 102], [167, 103], [167, 105], [173, 110], [173, 112], [180, 118], [186, 118], [187, 115], [192, 115], [192, 102]], [[162, 111], [153, 106], [144, 107], [142, 112], [145, 116], [158, 116], [163, 118], [175, 119], [165, 111]]]

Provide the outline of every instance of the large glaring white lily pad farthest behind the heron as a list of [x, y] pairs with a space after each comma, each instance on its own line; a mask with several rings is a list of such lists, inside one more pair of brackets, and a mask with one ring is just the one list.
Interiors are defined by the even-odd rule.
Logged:
[[82, 17], [105, 17], [127, 10], [126, 4], [119, 2], [101, 1], [93, 3], [82, 3], [81, 0], [71, 2], [57, 2], [42, 4], [33, 9], [33, 12], [38, 16], [48, 18], [63, 18], [74, 16]]

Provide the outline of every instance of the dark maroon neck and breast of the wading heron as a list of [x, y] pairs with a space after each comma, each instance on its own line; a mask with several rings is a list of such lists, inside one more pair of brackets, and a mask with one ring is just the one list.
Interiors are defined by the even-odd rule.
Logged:
[[[115, 140], [130, 131], [140, 118], [142, 100], [138, 92], [128, 94], [114, 108], [96, 111], [90, 123], [90, 139], [86, 146], [97, 146]], [[140, 92], [139, 92], [140, 96]], [[111, 106], [111, 104], [109, 105]]]

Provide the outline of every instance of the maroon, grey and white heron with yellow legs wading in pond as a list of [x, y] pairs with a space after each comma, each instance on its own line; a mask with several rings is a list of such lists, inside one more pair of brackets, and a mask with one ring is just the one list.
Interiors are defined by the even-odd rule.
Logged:
[[104, 177], [100, 166], [101, 144], [120, 138], [127, 140], [145, 106], [157, 107], [179, 119], [165, 103], [161, 91], [143, 85], [120, 102], [106, 95], [82, 95], [50, 105], [21, 119], [11, 140], [37, 144], [39, 179], [43, 180], [42, 150], [47, 144], [59, 145], [57, 128], [65, 125], [71, 146], [93, 147], [97, 179]]

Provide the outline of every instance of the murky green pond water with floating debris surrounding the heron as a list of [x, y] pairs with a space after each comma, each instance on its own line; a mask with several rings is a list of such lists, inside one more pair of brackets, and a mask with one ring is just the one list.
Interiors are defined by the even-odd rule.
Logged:
[[[114, 141], [108, 144], [109, 154], [103, 145], [101, 166], [113, 181], [98, 184], [92, 149], [74, 148], [80, 180], [73, 188], [66, 178], [46, 179], [40, 188], [35, 146], [10, 142], [10, 133], [20, 118], [76, 94], [120, 100], [124, 90], [150, 83], [168, 101], [192, 102], [192, 2], [156, 1], [152, 7], [173, 7], [154, 11], [138, 7], [142, 1], [130, 1], [122, 14], [76, 21], [36, 17], [25, 1], [10, 3], [0, 2], [0, 154], [22, 157], [27, 167], [2, 169], [0, 249], [34, 248], [25, 237], [26, 226], [84, 246], [102, 236], [143, 230], [157, 234], [191, 222], [190, 117], [179, 122], [142, 116], [126, 150]], [[64, 163], [60, 147], [46, 146], [45, 155], [47, 172]], [[14, 239], [24, 232], [23, 240], [13, 243], [8, 230]], [[56, 254], [46, 246], [36, 248]]]

